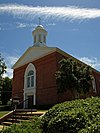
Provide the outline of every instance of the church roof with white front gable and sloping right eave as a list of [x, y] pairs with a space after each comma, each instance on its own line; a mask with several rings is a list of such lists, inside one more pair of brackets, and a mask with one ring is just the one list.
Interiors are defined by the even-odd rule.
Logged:
[[[87, 65], [85, 63], [83, 63], [82, 61], [78, 60], [77, 58], [71, 56], [70, 54], [64, 52], [63, 50], [57, 48], [57, 47], [36, 47], [36, 46], [31, 46], [29, 47], [25, 53], [18, 59], [18, 61], [13, 65], [12, 69], [16, 69], [19, 68], [29, 62], [35, 61], [37, 59], [40, 59], [46, 55], [49, 55], [53, 52], [58, 52], [62, 55], [64, 55], [65, 57], [68, 58], [72, 58], [74, 60], [76, 60], [77, 62], [83, 64], [83, 65]], [[90, 66], [91, 67], [91, 66]], [[92, 67], [91, 67], [92, 68]], [[92, 68], [94, 71], [96, 71], [97, 73], [100, 74], [99, 71], [95, 70], [94, 68]]]

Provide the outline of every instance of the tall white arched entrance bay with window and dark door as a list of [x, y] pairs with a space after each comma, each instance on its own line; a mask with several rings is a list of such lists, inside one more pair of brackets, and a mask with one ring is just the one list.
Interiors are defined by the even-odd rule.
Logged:
[[36, 69], [30, 63], [24, 75], [24, 108], [33, 108], [36, 105]]

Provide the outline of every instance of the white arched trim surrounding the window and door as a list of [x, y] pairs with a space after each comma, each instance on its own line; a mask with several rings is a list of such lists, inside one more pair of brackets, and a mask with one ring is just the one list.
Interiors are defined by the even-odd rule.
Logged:
[[[28, 75], [30, 70], [34, 71], [34, 87], [27, 88], [27, 75]], [[27, 66], [27, 68], [25, 70], [25, 74], [24, 74], [24, 100], [26, 100], [29, 95], [33, 95], [33, 97], [34, 97], [33, 104], [36, 105], [36, 69], [32, 63], [30, 63]], [[28, 105], [24, 104], [24, 108], [26, 106], [28, 106]]]

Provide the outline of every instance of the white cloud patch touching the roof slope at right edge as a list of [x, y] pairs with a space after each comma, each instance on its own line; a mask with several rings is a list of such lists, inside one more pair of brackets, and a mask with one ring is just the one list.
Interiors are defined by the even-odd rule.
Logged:
[[100, 60], [98, 60], [97, 58], [82, 57], [82, 58], [79, 58], [79, 60], [90, 65], [91, 67], [95, 68], [96, 70], [100, 71]]

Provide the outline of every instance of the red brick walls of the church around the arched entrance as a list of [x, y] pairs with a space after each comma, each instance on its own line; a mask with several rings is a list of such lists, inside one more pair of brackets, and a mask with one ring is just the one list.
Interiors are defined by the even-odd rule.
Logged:
[[[66, 92], [59, 95], [57, 94], [55, 72], [58, 70], [58, 62], [62, 58], [64, 58], [63, 55], [54, 52], [36, 61], [31, 62], [35, 65], [36, 68], [37, 105], [56, 104], [59, 102], [73, 99], [72, 92]], [[14, 97], [17, 94], [20, 97], [20, 100], [22, 100], [23, 98], [24, 73], [28, 64], [14, 70], [12, 96]], [[93, 75], [96, 79], [97, 94], [91, 93], [90, 95], [100, 96], [100, 75], [98, 75], [98, 73], [96, 72], [94, 72]]]

